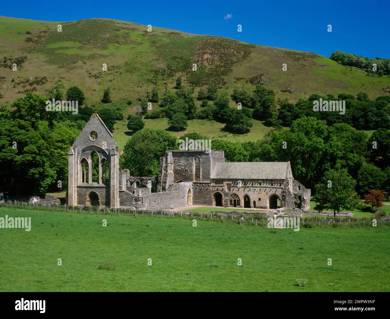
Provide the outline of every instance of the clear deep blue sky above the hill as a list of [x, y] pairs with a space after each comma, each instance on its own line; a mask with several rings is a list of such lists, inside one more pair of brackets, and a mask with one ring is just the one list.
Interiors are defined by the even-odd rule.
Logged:
[[[390, 58], [390, 2], [383, 1], [25, 1], [0, 15], [45, 21], [110, 18], [228, 37], [326, 57], [336, 50]], [[237, 32], [237, 25], [242, 32]], [[332, 25], [332, 32], [327, 26]]]

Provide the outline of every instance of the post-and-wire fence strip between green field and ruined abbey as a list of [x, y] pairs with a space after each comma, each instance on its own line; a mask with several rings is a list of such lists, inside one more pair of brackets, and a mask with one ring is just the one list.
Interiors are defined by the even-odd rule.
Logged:
[[[136, 210], [131, 207], [121, 208], [108, 208], [99, 206], [68, 206], [66, 204], [59, 203], [30, 203], [23, 201], [7, 201], [1, 203], [0, 207], [16, 207], [24, 208], [27, 210], [47, 210], [47, 211], [67, 211], [74, 213], [100, 213], [100, 214], [113, 214], [113, 215], [133, 215], [137, 217], [139, 215], [148, 217], [165, 217], [165, 218], [177, 218], [177, 219], [195, 219], [195, 220], [207, 220], [213, 222], [222, 222], [246, 226], [265, 226], [269, 228], [296, 228], [299, 227], [378, 227], [378, 226], [390, 226], [390, 220], [379, 220], [379, 214], [372, 216], [371, 218], [359, 218], [359, 217], [329, 217], [324, 215], [303, 215], [302, 217], [286, 217], [278, 215], [277, 219], [274, 217], [268, 217], [265, 214], [232, 214], [229, 211], [224, 213], [201, 213], [197, 211], [168, 211], [168, 210]], [[271, 219], [270, 219], [271, 218]], [[295, 220], [294, 220], [295, 218]], [[298, 221], [299, 219], [299, 221]], [[299, 223], [299, 224], [298, 224]]]

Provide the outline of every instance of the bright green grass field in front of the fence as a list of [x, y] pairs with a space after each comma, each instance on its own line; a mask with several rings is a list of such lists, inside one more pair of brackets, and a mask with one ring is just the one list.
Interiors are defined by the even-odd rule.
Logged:
[[[5, 215], [32, 217], [32, 228], [0, 229], [0, 291], [390, 291], [390, 227], [271, 232], [142, 215]], [[116, 269], [98, 269], [105, 261]]]

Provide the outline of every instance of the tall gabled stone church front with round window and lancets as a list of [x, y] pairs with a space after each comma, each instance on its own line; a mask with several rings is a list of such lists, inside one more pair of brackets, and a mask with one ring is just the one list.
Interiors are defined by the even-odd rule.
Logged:
[[68, 153], [69, 206], [119, 207], [119, 153], [99, 115], [93, 114]]

